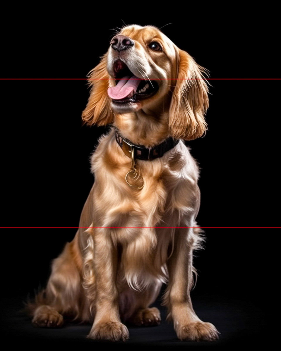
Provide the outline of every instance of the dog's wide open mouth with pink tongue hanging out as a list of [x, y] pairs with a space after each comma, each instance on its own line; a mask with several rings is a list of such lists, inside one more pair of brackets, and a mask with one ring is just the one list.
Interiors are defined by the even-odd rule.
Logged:
[[139, 79], [123, 61], [115, 61], [113, 69], [116, 86], [108, 88], [107, 93], [118, 104], [144, 100], [158, 91], [159, 86], [155, 80]]

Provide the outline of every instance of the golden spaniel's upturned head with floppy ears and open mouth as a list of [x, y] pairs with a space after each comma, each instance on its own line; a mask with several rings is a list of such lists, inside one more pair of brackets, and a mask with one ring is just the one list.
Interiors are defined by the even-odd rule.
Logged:
[[127, 26], [90, 72], [91, 93], [82, 118], [106, 125], [116, 114], [149, 111], [166, 120], [172, 137], [198, 138], [206, 129], [209, 104], [202, 73], [204, 68], [159, 29]]

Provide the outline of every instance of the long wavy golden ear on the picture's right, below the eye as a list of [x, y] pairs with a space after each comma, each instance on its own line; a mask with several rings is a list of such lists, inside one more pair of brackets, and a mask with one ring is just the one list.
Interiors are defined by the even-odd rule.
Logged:
[[204, 68], [197, 65], [187, 52], [179, 50], [178, 60], [178, 79], [171, 99], [169, 129], [176, 139], [192, 140], [201, 137], [207, 128], [204, 115], [209, 107], [208, 86], [202, 79]]

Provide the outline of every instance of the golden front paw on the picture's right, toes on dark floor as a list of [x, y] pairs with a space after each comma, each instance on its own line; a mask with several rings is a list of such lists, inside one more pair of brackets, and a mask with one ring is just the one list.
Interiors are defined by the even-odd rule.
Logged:
[[211, 323], [193, 322], [176, 327], [177, 336], [185, 341], [213, 341], [218, 339], [218, 331]]

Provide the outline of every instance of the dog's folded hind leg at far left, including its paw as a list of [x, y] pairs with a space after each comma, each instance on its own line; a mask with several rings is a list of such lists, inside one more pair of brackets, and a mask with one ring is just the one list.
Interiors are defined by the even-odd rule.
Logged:
[[79, 262], [77, 264], [77, 237], [67, 243], [60, 256], [53, 260], [52, 273], [45, 291], [35, 298], [27, 309], [32, 323], [39, 327], [60, 327], [63, 316], [89, 321], [90, 310], [84, 296]]

